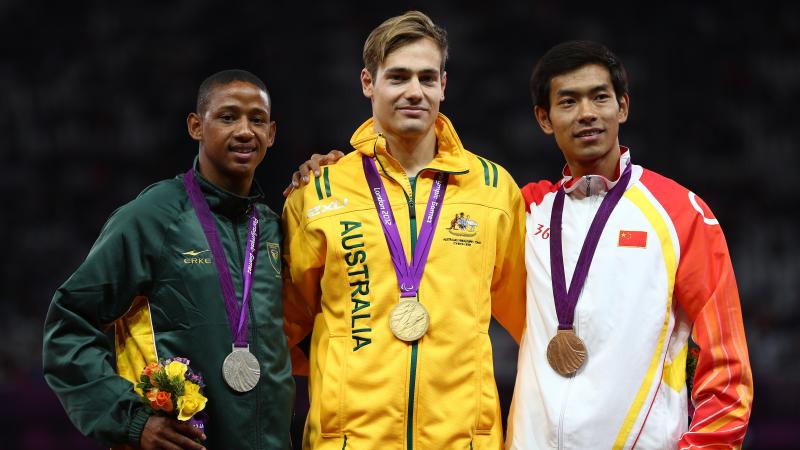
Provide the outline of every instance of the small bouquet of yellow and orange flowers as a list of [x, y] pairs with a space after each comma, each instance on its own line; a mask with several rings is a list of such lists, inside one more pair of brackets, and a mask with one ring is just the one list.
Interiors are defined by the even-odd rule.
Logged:
[[195, 415], [206, 407], [208, 399], [203, 396], [203, 377], [189, 368], [186, 358], [169, 358], [148, 364], [141, 381], [136, 385], [141, 390], [142, 403], [154, 414], [189, 421], [197, 428], [204, 428], [203, 420]]

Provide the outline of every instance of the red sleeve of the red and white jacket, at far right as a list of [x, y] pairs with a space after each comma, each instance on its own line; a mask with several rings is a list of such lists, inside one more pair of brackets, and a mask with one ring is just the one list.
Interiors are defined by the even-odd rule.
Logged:
[[692, 339], [700, 347], [692, 390], [695, 414], [678, 448], [740, 448], [752, 409], [753, 378], [725, 236], [694, 193], [649, 171], [643, 181], [678, 232], [675, 298], [693, 321]]

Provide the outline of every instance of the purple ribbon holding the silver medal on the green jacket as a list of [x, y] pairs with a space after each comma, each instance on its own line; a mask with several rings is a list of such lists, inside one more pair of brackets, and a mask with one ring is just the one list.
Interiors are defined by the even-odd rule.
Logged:
[[194, 177], [193, 169], [189, 169], [183, 176], [183, 185], [186, 188], [186, 194], [189, 195], [189, 200], [192, 202], [194, 212], [197, 214], [197, 219], [200, 221], [203, 234], [206, 235], [211, 254], [214, 257], [219, 284], [222, 287], [222, 296], [225, 299], [225, 311], [228, 313], [228, 325], [231, 327], [231, 336], [233, 336], [233, 345], [235, 347], [247, 347], [247, 305], [250, 303], [250, 288], [253, 286], [253, 271], [256, 266], [256, 255], [258, 254], [256, 249], [256, 242], [258, 241], [258, 212], [256, 211], [256, 206], [251, 206], [252, 213], [247, 226], [247, 254], [242, 268], [244, 288], [240, 306], [236, 301], [233, 278], [231, 278], [231, 273], [228, 270], [228, 260], [225, 257], [225, 250], [222, 248], [222, 242], [219, 239], [217, 224], [214, 222], [214, 217], [208, 208], [206, 198], [200, 190], [200, 185]]

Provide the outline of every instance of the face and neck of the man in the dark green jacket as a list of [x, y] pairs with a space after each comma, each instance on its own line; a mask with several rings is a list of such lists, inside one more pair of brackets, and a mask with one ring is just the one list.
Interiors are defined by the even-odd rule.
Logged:
[[245, 81], [215, 86], [203, 111], [186, 119], [200, 144], [200, 173], [234, 194], [250, 193], [256, 167], [275, 141], [267, 93]]

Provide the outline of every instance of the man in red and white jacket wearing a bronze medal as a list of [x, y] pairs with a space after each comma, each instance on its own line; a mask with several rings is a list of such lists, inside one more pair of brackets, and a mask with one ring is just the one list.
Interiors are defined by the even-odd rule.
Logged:
[[[531, 93], [567, 164], [557, 184], [522, 189], [527, 325], [507, 447], [741, 447], [753, 384], [719, 223], [694, 193], [634, 165], [619, 145], [630, 99], [607, 48], [557, 45], [534, 69]], [[554, 293], [559, 277], [572, 304]], [[578, 341], [554, 339], [557, 331]], [[690, 335], [699, 346], [691, 423]]]

